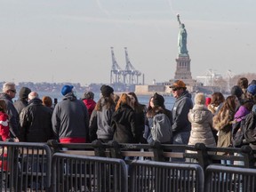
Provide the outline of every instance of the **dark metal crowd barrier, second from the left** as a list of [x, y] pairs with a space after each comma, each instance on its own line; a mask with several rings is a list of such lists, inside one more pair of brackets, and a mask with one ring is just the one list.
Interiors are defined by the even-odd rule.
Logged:
[[55, 153], [51, 191], [128, 192], [128, 173], [122, 159]]

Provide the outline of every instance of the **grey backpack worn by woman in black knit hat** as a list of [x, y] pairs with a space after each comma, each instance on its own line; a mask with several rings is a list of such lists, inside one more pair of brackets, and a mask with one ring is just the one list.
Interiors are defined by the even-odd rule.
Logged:
[[172, 143], [172, 124], [164, 113], [153, 117], [152, 139], [161, 143]]

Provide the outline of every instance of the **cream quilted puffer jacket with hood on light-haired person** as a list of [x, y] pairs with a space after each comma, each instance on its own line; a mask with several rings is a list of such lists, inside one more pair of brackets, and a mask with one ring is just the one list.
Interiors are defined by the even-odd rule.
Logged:
[[216, 147], [212, 134], [212, 112], [204, 105], [195, 105], [188, 113], [191, 132], [188, 145], [204, 143], [206, 147]]

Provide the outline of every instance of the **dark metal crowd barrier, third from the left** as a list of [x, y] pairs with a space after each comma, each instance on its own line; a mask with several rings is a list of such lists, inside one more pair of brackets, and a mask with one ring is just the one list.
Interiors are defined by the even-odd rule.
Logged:
[[204, 191], [204, 171], [198, 164], [133, 161], [130, 192]]

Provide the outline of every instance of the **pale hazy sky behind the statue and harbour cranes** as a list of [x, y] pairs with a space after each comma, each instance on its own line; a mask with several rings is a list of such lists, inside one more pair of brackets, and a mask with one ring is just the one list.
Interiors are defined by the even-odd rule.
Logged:
[[151, 84], [172, 79], [179, 24], [193, 78], [256, 73], [255, 0], [0, 0], [0, 81], [110, 82], [110, 47]]

